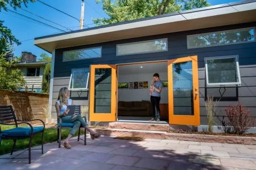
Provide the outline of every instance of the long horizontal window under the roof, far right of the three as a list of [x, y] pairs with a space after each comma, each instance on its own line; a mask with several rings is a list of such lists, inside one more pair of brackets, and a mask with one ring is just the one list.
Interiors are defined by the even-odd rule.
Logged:
[[203, 48], [209, 46], [255, 42], [255, 35], [256, 32], [254, 27], [188, 35], [187, 48]]

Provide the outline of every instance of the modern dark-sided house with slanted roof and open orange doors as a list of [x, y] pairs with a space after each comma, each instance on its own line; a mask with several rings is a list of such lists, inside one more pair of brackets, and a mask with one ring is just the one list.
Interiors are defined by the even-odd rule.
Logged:
[[68, 87], [75, 104], [89, 105], [89, 121], [143, 122], [154, 73], [168, 84], [160, 100], [168, 124], [201, 130], [207, 96], [220, 100], [217, 125], [238, 101], [256, 116], [255, 27], [256, 1], [242, 1], [37, 37], [52, 53], [52, 119]]

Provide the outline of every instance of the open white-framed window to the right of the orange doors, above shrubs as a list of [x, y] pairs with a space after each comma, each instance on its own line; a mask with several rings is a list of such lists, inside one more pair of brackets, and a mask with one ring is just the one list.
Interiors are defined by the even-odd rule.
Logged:
[[241, 85], [238, 56], [207, 57], [205, 72], [208, 87]]

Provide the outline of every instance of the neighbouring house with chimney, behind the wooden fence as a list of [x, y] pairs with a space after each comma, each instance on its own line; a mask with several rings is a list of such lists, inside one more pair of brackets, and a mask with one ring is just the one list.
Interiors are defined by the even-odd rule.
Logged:
[[44, 67], [49, 62], [36, 62], [36, 56], [30, 52], [22, 52], [21, 62], [15, 67], [22, 70], [26, 85], [20, 88], [20, 91], [42, 92]]

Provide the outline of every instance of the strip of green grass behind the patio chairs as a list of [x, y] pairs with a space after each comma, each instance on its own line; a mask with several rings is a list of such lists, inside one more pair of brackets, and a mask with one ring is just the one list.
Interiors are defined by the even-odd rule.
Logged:
[[[3, 126], [1, 125], [1, 130], [12, 129], [15, 126]], [[61, 139], [65, 139], [68, 137], [69, 131], [71, 129], [63, 129], [61, 130]], [[81, 134], [84, 134], [84, 130], [81, 130]], [[76, 134], [77, 135], [77, 134]], [[41, 137], [42, 135], [36, 135], [32, 138], [32, 146], [41, 145]], [[57, 128], [48, 128], [44, 129], [44, 143], [51, 143], [57, 141]], [[29, 139], [20, 139], [16, 142], [15, 150], [21, 150], [24, 148], [28, 148]], [[57, 146], [57, 144], [56, 144]], [[0, 145], [0, 155], [7, 154], [11, 152], [11, 148], [13, 147], [12, 140], [2, 140]]]

